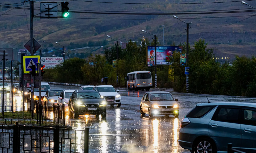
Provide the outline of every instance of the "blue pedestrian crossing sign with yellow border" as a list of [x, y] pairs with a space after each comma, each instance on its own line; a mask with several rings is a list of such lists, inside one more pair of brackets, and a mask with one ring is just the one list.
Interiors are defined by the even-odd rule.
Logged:
[[31, 68], [29, 68], [29, 66], [31, 65], [36, 65], [36, 71], [37, 69], [37, 63], [39, 63], [40, 60], [40, 56], [23, 56], [23, 69], [24, 69], [24, 73], [29, 73], [30, 71], [32, 71]]

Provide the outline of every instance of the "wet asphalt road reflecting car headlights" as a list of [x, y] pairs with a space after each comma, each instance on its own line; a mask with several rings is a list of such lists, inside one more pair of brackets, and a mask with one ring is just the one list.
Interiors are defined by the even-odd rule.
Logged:
[[[172, 93], [179, 99], [179, 118], [158, 116], [154, 119], [140, 117], [140, 100], [145, 92], [120, 91], [121, 108], [107, 106], [106, 119], [94, 116], [79, 116], [79, 119], [69, 119], [66, 116], [66, 125], [73, 129], [89, 127], [90, 152], [100, 153], [189, 153], [178, 144], [180, 121], [195, 107], [197, 103], [207, 102], [205, 95]], [[6, 93], [6, 104], [10, 104], [11, 94]], [[21, 98], [14, 96], [15, 102]], [[2, 101], [2, 94], [0, 94]], [[256, 98], [208, 96], [211, 102], [255, 102]], [[1, 104], [1, 103], [0, 103]]]

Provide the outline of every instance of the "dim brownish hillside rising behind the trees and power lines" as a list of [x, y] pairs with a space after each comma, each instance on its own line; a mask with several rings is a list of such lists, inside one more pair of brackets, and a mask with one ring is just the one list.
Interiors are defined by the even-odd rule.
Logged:
[[[11, 4], [22, 2], [23, 0], [2, 0], [2, 4]], [[50, 0], [49, 0], [50, 1]], [[100, 0], [92, 0], [100, 2]], [[109, 2], [101, 0], [102, 2]], [[223, 2], [224, 0], [209, 0], [207, 2]], [[166, 45], [179, 44], [186, 41], [186, 25], [177, 19], [176, 15], [183, 21], [192, 22], [190, 29], [190, 43], [199, 38], [205, 39], [209, 47], [216, 48], [215, 54], [222, 57], [234, 57], [235, 55], [251, 56], [255, 51], [255, 14], [249, 6], [242, 5], [240, 1], [231, 3], [208, 3], [208, 4], [113, 4], [113, 3], [94, 3], [83, 1], [68, 1], [70, 11], [80, 11], [86, 13], [71, 12], [68, 19], [58, 18], [57, 20], [34, 20], [34, 37], [39, 41], [43, 48], [59, 47], [54, 42], [59, 42], [68, 48], [82, 48], [88, 45], [89, 41], [102, 42], [107, 40], [104, 45], [113, 45], [110, 35], [120, 41], [139, 40], [142, 36], [152, 38], [151, 35], [143, 33], [146, 30], [152, 33], [158, 33], [158, 40], [162, 43], [162, 25], [164, 25], [164, 41]], [[203, 0], [112, 0], [111, 2], [122, 3], [202, 3]], [[248, 1], [250, 5], [256, 6], [256, 1]], [[20, 3], [22, 4], [22, 3]], [[15, 4], [15, 5], [20, 5]], [[29, 8], [29, 2], [24, 4], [24, 8]], [[7, 5], [11, 6], [11, 5]], [[23, 5], [19, 6], [23, 8]], [[39, 3], [35, 3], [35, 9], [38, 9]], [[60, 8], [60, 7], [59, 7]], [[188, 13], [188, 11], [241, 11], [238, 9], [252, 10], [252, 12], [239, 13], [217, 13], [217, 14], [179, 14]], [[9, 11], [9, 8], [0, 6], [0, 13]], [[90, 11], [89, 11], [90, 10]], [[25, 12], [26, 11], [26, 12]], [[168, 15], [140, 15], [140, 14], [95, 14], [88, 12], [113, 13], [116, 11], [131, 12], [169, 12]], [[211, 11], [216, 12], [216, 11]], [[39, 11], [35, 10], [35, 14]], [[119, 12], [125, 13], [125, 12]], [[0, 45], [5, 48], [23, 48], [23, 45], [29, 40], [29, 10], [13, 9], [6, 14], [21, 16], [0, 16]], [[235, 16], [235, 17], [234, 17]], [[245, 17], [237, 17], [245, 16]], [[218, 18], [213, 18], [218, 17]], [[222, 18], [229, 17], [229, 18]], [[79, 19], [78, 19], [79, 18]], [[191, 19], [200, 18], [200, 19]], [[121, 20], [123, 19], [123, 20]], [[128, 20], [129, 19], [129, 20]], [[147, 20], [139, 20], [147, 19]], [[155, 19], [155, 20], [150, 20]], [[240, 22], [239, 22], [240, 21]], [[28, 22], [28, 24], [27, 24]], [[237, 22], [237, 23], [236, 23]], [[235, 24], [233, 24], [235, 23]], [[225, 26], [227, 25], [227, 26]], [[217, 27], [217, 28], [216, 28]], [[2, 41], [1, 41], [2, 40]], [[152, 40], [152, 39], [151, 39]], [[11, 42], [11, 43], [8, 43]], [[14, 44], [13, 44], [14, 43]], [[18, 45], [15, 45], [18, 44]]]

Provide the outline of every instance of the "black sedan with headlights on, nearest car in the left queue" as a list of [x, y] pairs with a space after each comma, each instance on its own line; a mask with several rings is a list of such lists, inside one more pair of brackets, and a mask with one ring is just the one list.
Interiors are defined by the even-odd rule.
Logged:
[[106, 118], [106, 101], [95, 90], [75, 90], [68, 102], [69, 117], [79, 115], [95, 115]]

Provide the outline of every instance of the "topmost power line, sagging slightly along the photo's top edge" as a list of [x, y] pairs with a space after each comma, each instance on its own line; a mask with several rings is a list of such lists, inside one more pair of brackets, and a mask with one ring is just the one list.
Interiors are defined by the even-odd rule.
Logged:
[[[86, 1], [86, 0], [70, 0], [70, 1], [78, 1], [78, 2], [91, 2], [91, 3], [109, 3], [109, 4], [153, 4], [153, 5], [166, 5], [166, 4], [214, 4], [214, 3], [231, 3], [231, 2], [241, 2], [241, 1], [224, 1], [224, 2], [202, 2], [202, 3], [123, 3], [123, 2], [96, 2], [96, 1]], [[247, 1], [255, 1], [255, 0], [247, 0]]]

